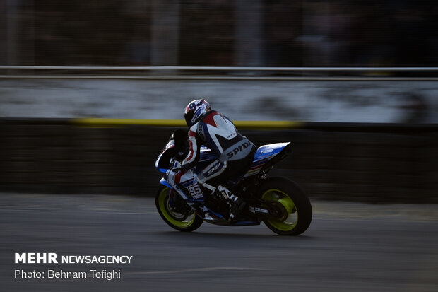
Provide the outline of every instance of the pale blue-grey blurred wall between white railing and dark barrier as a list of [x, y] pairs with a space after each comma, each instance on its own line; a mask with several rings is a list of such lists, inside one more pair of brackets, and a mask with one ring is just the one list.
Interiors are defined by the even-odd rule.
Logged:
[[235, 120], [438, 122], [436, 81], [0, 79], [0, 117], [183, 119], [199, 97]]

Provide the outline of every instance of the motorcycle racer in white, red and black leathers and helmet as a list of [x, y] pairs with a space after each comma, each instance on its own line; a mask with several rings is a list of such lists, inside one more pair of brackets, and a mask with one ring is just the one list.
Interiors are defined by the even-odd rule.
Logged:
[[[187, 198], [178, 186], [182, 176], [194, 177], [194, 185], [188, 187], [190, 196], [203, 204], [201, 184], [211, 194], [220, 193], [230, 205], [229, 221], [235, 220], [244, 206], [243, 199], [232, 194], [236, 183], [249, 169], [254, 158], [256, 146], [237, 131], [230, 119], [215, 110], [205, 99], [192, 100], [184, 111], [189, 127], [189, 153], [182, 160], [172, 160], [167, 171], [167, 182], [183, 197]], [[201, 170], [194, 172], [200, 157], [201, 145], [215, 153], [215, 160]], [[228, 183], [225, 186], [225, 182]]]

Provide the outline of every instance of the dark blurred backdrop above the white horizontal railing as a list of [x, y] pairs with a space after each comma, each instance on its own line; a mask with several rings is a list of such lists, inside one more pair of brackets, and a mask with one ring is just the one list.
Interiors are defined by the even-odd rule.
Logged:
[[437, 66], [428, 0], [3, 0], [0, 62]]

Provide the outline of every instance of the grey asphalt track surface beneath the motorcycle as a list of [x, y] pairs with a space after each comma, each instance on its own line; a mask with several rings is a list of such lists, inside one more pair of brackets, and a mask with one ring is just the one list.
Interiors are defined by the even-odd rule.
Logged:
[[[180, 233], [150, 198], [1, 194], [0, 291], [438, 291], [437, 205], [312, 204], [307, 232], [282, 237], [263, 223]], [[14, 264], [15, 252], [133, 258]], [[16, 279], [16, 269], [121, 279]]]

